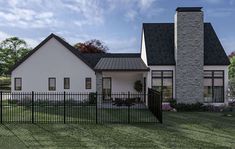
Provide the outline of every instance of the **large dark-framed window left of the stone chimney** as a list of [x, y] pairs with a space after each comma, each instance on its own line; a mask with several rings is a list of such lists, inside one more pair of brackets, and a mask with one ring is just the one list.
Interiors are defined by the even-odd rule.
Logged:
[[173, 98], [173, 71], [152, 71], [152, 88], [162, 93], [163, 101]]

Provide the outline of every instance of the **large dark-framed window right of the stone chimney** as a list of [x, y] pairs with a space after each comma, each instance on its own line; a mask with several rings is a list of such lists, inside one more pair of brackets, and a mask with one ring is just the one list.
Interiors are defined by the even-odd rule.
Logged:
[[204, 71], [204, 101], [224, 102], [224, 71]]

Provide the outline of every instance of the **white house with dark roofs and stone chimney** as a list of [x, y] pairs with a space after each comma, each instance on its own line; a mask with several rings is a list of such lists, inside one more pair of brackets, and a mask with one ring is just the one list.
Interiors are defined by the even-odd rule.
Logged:
[[163, 101], [225, 103], [226, 53], [200, 7], [179, 7], [174, 23], [144, 23], [140, 53], [83, 54], [51, 34], [11, 70], [14, 92], [143, 92]]

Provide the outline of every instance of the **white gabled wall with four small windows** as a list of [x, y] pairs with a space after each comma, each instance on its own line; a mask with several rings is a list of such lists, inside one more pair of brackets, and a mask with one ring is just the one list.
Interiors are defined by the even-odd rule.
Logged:
[[[96, 91], [95, 72], [54, 38], [12, 72], [12, 91], [15, 77], [22, 78], [22, 92], [48, 92], [49, 77], [56, 78], [56, 92]], [[70, 89], [64, 90], [64, 77], [70, 78]], [[92, 89], [85, 89], [86, 77], [92, 78]]]

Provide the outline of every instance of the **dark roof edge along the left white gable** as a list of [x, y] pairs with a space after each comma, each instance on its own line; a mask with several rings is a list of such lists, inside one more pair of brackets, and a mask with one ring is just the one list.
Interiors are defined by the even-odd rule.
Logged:
[[9, 70], [8, 73], [11, 73], [14, 69], [16, 69], [20, 64], [22, 64], [24, 61], [26, 61], [31, 55], [33, 55], [38, 49], [40, 49], [44, 44], [46, 44], [51, 38], [55, 38], [59, 43], [61, 43], [66, 49], [68, 49], [70, 52], [72, 52], [75, 56], [77, 56], [79, 59], [81, 59], [85, 64], [87, 64], [90, 68], [93, 69], [92, 65], [89, 64], [84, 57], [81, 56], [81, 52], [79, 52], [77, 49], [75, 49], [73, 46], [68, 44], [66, 41], [64, 41], [59, 36], [56, 36], [55, 34], [50, 34], [46, 39], [44, 39], [39, 45], [37, 45], [33, 50], [31, 50], [25, 57], [23, 57], [21, 60], [16, 62], [16, 64]]

